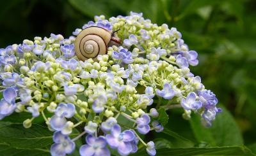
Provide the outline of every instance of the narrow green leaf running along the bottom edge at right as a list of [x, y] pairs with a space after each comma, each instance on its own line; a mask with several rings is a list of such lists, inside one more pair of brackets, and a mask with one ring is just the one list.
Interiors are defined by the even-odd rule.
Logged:
[[[143, 149], [136, 153], [136, 155], [146, 156], [148, 153]], [[246, 146], [229, 146], [214, 148], [161, 148], [157, 150], [157, 155], [253, 155], [253, 153]]]

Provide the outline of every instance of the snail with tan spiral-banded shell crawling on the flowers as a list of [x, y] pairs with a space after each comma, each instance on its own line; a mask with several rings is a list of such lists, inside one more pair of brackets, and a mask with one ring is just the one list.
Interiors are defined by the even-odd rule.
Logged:
[[108, 31], [102, 27], [91, 26], [83, 29], [75, 40], [75, 52], [79, 60], [92, 58], [97, 59], [98, 55], [104, 55], [108, 46], [119, 45], [121, 40], [115, 36], [116, 31]]

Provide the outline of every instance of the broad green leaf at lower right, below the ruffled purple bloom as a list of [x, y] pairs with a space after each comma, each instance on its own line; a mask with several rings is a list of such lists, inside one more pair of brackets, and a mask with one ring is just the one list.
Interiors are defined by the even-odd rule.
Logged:
[[216, 115], [212, 127], [205, 128], [200, 123], [200, 117], [191, 117], [190, 124], [197, 141], [207, 142], [211, 146], [237, 146], [243, 145], [243, 137], [237, 127], [236, 121], [225, 108], [223, 112]]

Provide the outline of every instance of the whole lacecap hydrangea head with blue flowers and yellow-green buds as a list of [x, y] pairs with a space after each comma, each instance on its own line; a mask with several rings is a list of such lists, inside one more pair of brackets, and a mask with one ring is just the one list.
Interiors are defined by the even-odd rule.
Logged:
[[[74, 40], [90, 26], [119, 30], [122, 44], [108, 47], [97, 60], [77, 59]], [[152, 24], [134, 12], [109, 20], [96, 16], [83, 29], [67, 39], [51, 34], [0, 49], [0, 119], [31, 113], [23, 123], [29, 128], [36, 117], [44, 117], [54, 131], [52, 156], [72, 153], [81, 138], [86, 144], [80, 155], [111, 155], [110, 148], [129, 155], [140, 144], [156, 155], [154, 142], [145, 143], [141, 136], [163, 131], [159, 109], [183, 108], [185, 119], [195, 112], [211, 126], [221, 111], [218, 99], [190, 72], [198, 54], [177, 29]], [[83, 131], [71, 137], [76, 127]]]

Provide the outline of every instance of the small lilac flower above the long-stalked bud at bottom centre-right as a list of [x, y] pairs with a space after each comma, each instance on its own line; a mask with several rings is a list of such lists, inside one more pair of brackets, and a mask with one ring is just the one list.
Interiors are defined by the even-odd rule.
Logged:
[[150, 131], [150, 117], [147, 114], [141, 115], [140, 118], [136, 119], [137, 130], [140, 134], [147, 134]]

